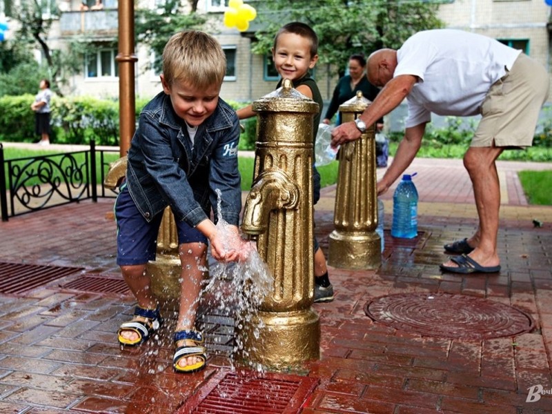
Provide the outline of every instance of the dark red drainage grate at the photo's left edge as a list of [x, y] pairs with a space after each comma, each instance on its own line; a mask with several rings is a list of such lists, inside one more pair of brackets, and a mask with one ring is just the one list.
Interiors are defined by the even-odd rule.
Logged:
[[21, 295], [83, 268], [0, 262], [0, 293]]

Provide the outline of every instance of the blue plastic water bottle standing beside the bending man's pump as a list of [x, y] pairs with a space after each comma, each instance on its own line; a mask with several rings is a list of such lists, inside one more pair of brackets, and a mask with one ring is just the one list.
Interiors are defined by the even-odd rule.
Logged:
[[402, 239], [413, 239], [418, 233], [418, 192], [412, 182], [416, 175], [405, 174], [393, 194], [393, 225], [391, 235]]

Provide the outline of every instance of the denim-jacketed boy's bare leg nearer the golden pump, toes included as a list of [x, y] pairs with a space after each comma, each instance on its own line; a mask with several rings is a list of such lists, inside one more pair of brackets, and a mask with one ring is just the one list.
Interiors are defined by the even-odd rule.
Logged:
[[[207, 267], [207, 246], [199, 242], [181, 244], [179, 254], [182, 271], [180, 274], [180, 308], [176, 330], [193, 330], [201, 293], [201, 282], [205, 275], [205, 271], [201, 269]], [[195, 343], [182, 340], [178, 341], [176, 345], [194, 346]], [[199, 357], [182, 358], [179, 361], [179, 366], [197, 364], [200, 361]]]

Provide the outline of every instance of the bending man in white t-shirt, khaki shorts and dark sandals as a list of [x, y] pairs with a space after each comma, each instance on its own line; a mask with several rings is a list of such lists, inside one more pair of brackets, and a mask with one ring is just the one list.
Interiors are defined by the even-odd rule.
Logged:
[[462, 253], [441, 265], [455, 273], [500, 271], [497, 255], [500, 186], [495, 161], [506, 148], [531, 146], [542, 104], [549, 93], [545, 68], [502, 43], [461, 30], [426, 30], [399, 50], [382, 49], [368, 58], [368, 79], [382, 91], [354, 122], [333, 130], [333, 146], [358, 139], [366, 126], [408, 101], [405, 134], [393, 163], [377, 183], [388, 190], [411, 164], [431, 113], [482, 115], [464, 167], [469, 173], [479, 226], [462, 241], [447, 244]]

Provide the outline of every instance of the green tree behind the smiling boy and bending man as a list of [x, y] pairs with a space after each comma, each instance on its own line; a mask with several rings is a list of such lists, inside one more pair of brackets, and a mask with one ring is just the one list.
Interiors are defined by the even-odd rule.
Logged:
[[319, 63], [337, 68], [340, 76], [353, 53], [399, 48], [415, 32], [444, 26], [438, 1], [272, 0], [257, 7], [262, 30], [255, 33], [253, 52], [269, 52], [282, 23], [303, 21], [319, 37]]

